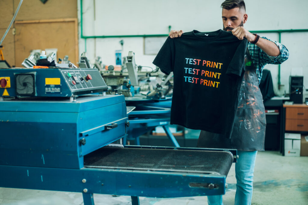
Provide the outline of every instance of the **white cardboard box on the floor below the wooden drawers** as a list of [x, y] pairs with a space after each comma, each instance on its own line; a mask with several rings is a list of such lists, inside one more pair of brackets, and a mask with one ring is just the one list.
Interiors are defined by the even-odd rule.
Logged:
[[285, 133], [285, 156], [299, 157], [301, 151], [301, 134]]

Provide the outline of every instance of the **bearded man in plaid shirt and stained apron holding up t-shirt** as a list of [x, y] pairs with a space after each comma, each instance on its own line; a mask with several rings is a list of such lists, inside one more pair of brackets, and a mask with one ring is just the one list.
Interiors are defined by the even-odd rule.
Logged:
[[[266, 124], [258, 83], [260, 83], [265, 64], [281, 64], [288, 59], [289, 51], [284, 45], [252, 34], [243, 27], [248, 18], [243, 0], [226, 0], [221, 7], [223, 30], [232, 31], [238, 39], [246, 38], [249, 42], [245, 55], [245, 75], [231, 139], [201, 131], [198, 146], [238, 150], [239, 159], [235, 165], [237, 179], [235, 204], [250, 205], [255, 159], [257, 150], [264, 150]], [[182, 34], [182, 30], [171, 31], [169, 36], [177, 38]], [[222, 196], [208, 196], [208, 203], [209, 205], [222, 205]]]

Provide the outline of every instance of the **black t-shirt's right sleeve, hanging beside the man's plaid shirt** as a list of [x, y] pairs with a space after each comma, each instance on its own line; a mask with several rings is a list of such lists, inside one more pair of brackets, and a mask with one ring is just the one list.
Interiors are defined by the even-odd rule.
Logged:
[[247, 48], [247, 40], [244, 39], [238, 45], [233, 58], [227, 68], [226, 74], [235, 74], [241, 76], [242, 72], [245, 71], [245, 52]]

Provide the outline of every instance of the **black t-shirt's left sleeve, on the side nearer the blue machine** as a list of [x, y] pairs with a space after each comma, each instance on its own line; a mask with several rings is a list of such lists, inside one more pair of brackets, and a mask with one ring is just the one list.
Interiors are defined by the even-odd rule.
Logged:
[[160, 68], [161, 72], [169, 75], [174, 67], [174, 42], [168, 37], [160, 51], [156, 55], [153, 64]]

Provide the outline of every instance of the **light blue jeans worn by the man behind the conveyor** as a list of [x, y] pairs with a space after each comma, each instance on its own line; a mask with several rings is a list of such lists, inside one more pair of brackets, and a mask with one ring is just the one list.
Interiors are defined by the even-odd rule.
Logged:
[[[253, 190], [253, 170], [257, 151], [238, 150], [235, 163], [236, 194], [235, 205], [250, 205]], [[222, 195], [208, 196], [209, 205], [223, 205]]]

